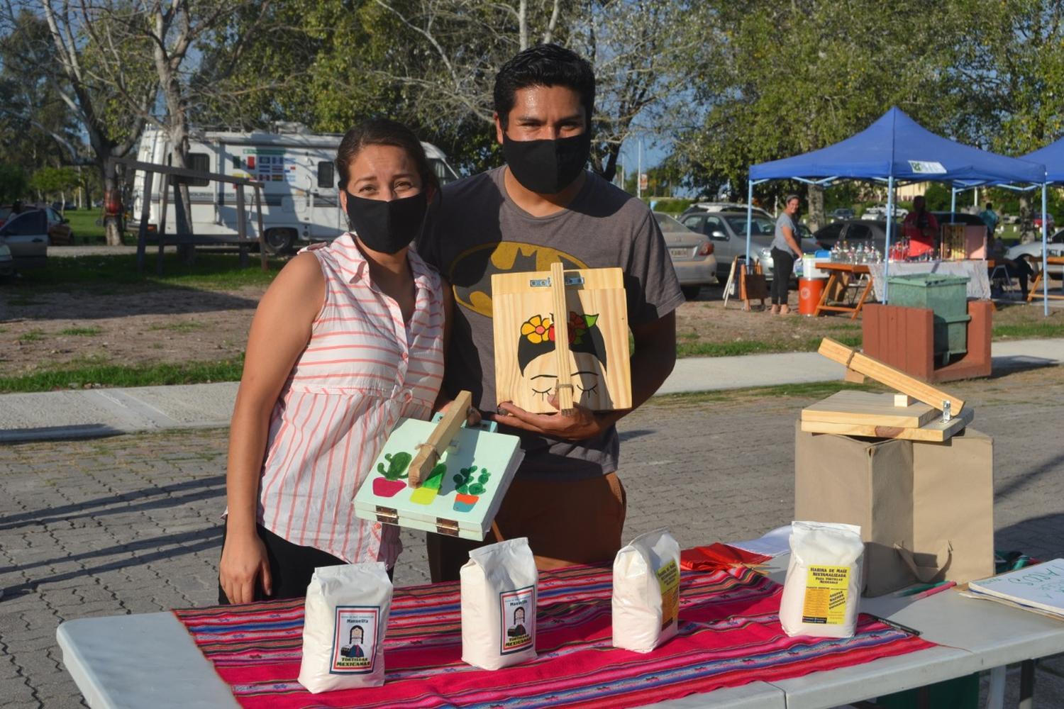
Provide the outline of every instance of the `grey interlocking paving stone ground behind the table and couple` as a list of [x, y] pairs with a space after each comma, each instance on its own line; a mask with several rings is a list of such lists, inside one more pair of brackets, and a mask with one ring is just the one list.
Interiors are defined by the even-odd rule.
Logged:
[[[944, 385], [974, 408], [972, 427], [995, 438], [998, 548], [1064, 556], [1062, 374], [1050, 367]], [[666, 525], [691, 546], [789, 522], [794, 422], [825, 395], [805, 386], [661, 396], [627, 417], [626, 535]], [[0, 705], [85, 706], [55, 641], [65, 620], [215, 602], [227, 436], [181, 429], [0, 446]], [[427, 583], [420, 534], [403, 539], [396, 585]], [[1061, 657], [1040, 663], [1037, 706], [1064, 707], [1062, 675]], [[1017, 687], [1011, 669], [1012, 706]]]

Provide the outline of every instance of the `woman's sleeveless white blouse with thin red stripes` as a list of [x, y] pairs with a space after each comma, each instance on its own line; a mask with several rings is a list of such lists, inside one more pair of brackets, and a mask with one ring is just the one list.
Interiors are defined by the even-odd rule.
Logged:
[[352, 501], [399, 420], [432, 412], [444, 374], [439, 275], [409, 252], [417, 296], [403, 323], [351, 234], [303, 251], [321, 265], [326, 298], [270, 418], [260, 523], [351, 563], [392, 567], [398, 528], [355, 517]]

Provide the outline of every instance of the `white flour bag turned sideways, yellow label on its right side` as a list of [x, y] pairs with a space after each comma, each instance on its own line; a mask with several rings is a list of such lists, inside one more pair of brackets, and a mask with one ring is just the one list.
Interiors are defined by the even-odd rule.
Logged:
[[680, 544], [668, 529], [639, 535], [613, 560], [613, 646], [649, 653], [676, 636]]

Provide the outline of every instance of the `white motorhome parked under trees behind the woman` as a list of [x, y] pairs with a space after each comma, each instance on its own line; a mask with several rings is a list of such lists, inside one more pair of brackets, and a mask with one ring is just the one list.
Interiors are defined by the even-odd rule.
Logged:
[[[300, 123], [278, 123], [277, 132], [233, 133], [207, 131], [195, 135], [189, 144], [188, 165], [193, 170], [249, 178], [265, 183], [263, 188], [263, 230], [267, 248], [289, 251], [297, 240], [330, 241], [347, 229], [339, 208], [339, 192], [333, 159], [343, 135], [310, 133]], [[440, 183], [458, 180], [444, 153], [422, 142], [430, 166]], [[164, 131], [149, 128], [140, 138], [137, 161], [170, 165], [170, 140]], [[157, 234], [161, 193], [160, 175], [152, 181], [149, 196], [148, 230]], [[144, 172], [133, 182], [130, 227], [137, 229], [144, 209]], [[209, 180], [190, 180], [193, 233], [197, 238], [218, 237], [219, 242], [236, 237], [235, 187]], [[254, 215], [254, 190], [245, 189], [247, 223], [250, 237], [257, 238]], [[169, 198], [172, 202], [172, 196]], [[167, 209], [166, 232], [173, 233], [173, 205]]]

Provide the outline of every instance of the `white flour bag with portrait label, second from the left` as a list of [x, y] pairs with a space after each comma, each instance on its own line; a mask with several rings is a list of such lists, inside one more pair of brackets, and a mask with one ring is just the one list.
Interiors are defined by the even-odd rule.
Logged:
[[462, 661], [499, 670], [535, 659], [539, 572], [526, 537], [469, 552], [462, 567]]

